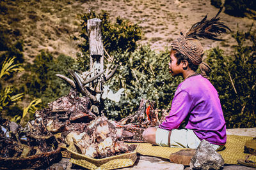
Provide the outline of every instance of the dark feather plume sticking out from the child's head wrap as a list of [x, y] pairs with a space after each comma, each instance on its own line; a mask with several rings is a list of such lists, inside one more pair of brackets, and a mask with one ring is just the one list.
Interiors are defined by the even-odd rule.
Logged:
[[219, 21], [220, 17], [218, 15], [221, 13], [221, 10], [222, 8], [220, 8], [220, 11], [211, 20], [207, 20], [207, 15], [205, 15], [200, 22], [193, 24], [186, 33], [186, 38], [208, 38], [221, 41], [222, 39], [217, 37], [222, 33], [227, 33], [227, 30], [231, 31], [227, 25]]

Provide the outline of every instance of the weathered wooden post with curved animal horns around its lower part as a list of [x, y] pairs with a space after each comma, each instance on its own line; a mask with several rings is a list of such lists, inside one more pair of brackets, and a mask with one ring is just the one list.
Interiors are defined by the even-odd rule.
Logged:
[[[90, 50], [90, 71], [73, 71], [68, 69], [68, 72], [74, 78], [75, 81], [63, 76], [61, 74], [56, 74], [56, 76], [65, 80], [73, 89], [81, 92], [83, 96], [86, 96], [92, 102], [93, 113], [99, 115], [102, 108], [102, 98], [111, 99], [113, 101], [118, 101], [120, 99], [120, 94], [124, 89], [118, 90], [116, 94], [108, 95], [110, 89], [102, 87], [102, 83], [108, 81], [117, 69], [117, 66], [113, 68], [108, 73], [104, 73], [104, 47], [102, 43], [102, 32], [101, 32], [101, 20], [99, 18], [93, 18], [87, 21], [87, 31], [89, 39], [89, 50]], [[110, 68], [107, 67], [107, 70]], [[103, 90], [105, 96], [102, 97]]]

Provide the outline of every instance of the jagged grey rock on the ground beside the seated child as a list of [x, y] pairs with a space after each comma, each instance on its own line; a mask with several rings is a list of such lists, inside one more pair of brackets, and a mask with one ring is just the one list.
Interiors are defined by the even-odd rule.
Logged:
[[212, 148], [211, 144], [202, 140], [189, 164], [190, 169], [220, 169], [224, 159]]

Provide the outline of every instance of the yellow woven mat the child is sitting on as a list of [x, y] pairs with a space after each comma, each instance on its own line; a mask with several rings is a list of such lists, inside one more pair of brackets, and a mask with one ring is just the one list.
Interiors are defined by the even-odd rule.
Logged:
[[[228, 135], [225, 150], [218, 152], [225, 160], [225, 164], [238, 164], [237, 159], [244, 159], [245, 155], [247, 155], [246, 153], [243, 153], [245, 141], [252, 138], [253, 137], [250, 136]], [[154, 146], [148, 143], [141, 143], [137, 152], [141, 155], [169, 159], [171, 153], [178, 152], [182, 149], [184, 148], [168, 148], [163, 146]], [[250, 160], [256, 161], [256, 156], [252, 155]]]

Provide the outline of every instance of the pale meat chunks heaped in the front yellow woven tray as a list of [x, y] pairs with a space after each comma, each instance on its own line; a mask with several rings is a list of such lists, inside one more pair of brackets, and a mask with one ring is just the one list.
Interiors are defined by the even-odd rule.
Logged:
[[97, 159], [132, 152], [135, 149], [134, 145], [118, 141], [116, 128], [106, 117], [92, 120], [82, 133], [70, 132], [66, 143], [74, 145], [78, 153]]

